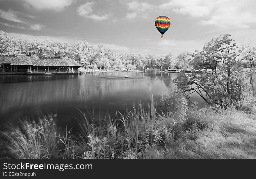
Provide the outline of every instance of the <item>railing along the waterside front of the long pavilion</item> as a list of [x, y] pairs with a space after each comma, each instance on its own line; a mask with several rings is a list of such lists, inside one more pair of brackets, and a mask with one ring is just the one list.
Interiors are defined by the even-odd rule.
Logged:
[[0, 69], [8, 73], [78, 73], [78, 70], [29, 70], [29, 69]]

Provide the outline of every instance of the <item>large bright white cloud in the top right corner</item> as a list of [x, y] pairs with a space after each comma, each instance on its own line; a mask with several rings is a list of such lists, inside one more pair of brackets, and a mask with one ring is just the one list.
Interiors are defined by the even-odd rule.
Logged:
[[219, 28], [249, 28], [256, 23], [256, 13], [251, 6], [253, 0], [241, 3], [239, 0], [171, 0], [160, 5], [162, 9], [193, 18], [201, 18], [201, 25]]

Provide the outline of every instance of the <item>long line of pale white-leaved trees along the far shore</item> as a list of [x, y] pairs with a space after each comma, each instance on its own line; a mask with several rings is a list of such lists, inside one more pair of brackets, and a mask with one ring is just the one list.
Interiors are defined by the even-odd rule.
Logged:
[[96, 48], [87, 41], [56, 42], [37, 39], [15, 39], [0, 31], [0, 54], [16, 54], [33, 58], [61, 56], [74, 59], [86, 69], [134, 69], [147, 65], [173, 68], [188, 68], [191, 54], [182, 52], [178, 56], [153, 54], [118, 53], [99, 44]]

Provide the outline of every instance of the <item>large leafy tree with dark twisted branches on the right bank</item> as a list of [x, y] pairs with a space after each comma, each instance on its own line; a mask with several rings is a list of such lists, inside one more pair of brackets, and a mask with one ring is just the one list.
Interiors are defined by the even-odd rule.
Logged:
[[[181, 73], [174, 81], [189, 99], [196, 92], [208, 104], [241, 106], [248, 87], [248, 73], [241, 68], [241, 53], [247, 46], [239, 48], [225, 34], [206, 43], [201, 52], [195, 52], [191, 74]], [[217, 70], [218, 64], [221, 68]]]

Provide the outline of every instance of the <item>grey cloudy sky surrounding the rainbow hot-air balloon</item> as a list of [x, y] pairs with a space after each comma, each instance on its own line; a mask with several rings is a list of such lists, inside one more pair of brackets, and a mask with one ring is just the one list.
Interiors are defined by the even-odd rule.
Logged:
[[[0, 0], [0, 30], [24, 39], [103, 43], [120, 53], [178, 55], [221, 34], [256, 46], [254, 0]], [[164, 38], [158, 16], [171, 21]]]

